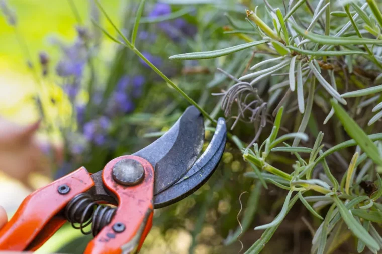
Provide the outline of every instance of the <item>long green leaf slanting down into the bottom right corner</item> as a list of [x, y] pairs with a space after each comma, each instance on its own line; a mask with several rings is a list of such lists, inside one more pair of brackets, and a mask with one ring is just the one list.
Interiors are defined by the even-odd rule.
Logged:
[[361, 224], [358, 223], [354, 219], [354, 217], [349, 213], [348, 209], [346, 209], [345, 205], [342, 203], [342, 201], [338, 198], [337, 195], [333, 196], [333, 200], [341, 214], [342, 219], [346, 223], [346, 225], [349, 227], [350, 231], [358, 237], [360, 240], [362, 240], [367, 246], [379, 250], [380, 247], [378, 243], [374, 240], [374, 238], [371, 237], [371, 235], [362, 227]]

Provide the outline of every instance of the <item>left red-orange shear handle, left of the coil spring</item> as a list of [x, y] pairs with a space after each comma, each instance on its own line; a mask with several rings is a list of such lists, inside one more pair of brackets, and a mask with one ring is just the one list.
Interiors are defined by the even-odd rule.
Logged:
[[[66, 186], [66, 187], [63, 187]], [[0, 250], [36, 250], [66, 221], [55, 216], [77, 194], [94, 182], [84, 167], [27, 196], [11, 220], [0, 230]], [[68, 187], [68, 189], [67, 189]], [[64, 191], [58, 191], [63, 188]]]

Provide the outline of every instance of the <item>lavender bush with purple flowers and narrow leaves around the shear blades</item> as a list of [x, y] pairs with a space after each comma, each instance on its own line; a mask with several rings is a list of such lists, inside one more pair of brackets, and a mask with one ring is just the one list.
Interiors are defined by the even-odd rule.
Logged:
[[[193, 231], [189, 252], [198, 243], [211, 252], [238, 252], [239, 239], [245, 253], [377, 253], [377, 2], [145, 2], [128, 4], [120, 26], [103, 4], [91, 2], [90, 27], [69, 1], [78, 36], [69, 46], [57, 41], [62, 57], [54, 69], [77, 128], [63, 129], [66, 163], [58, 175], [77, 164], [97, 171], [108, 159], [144, 146], [137, 144], [137, 134], [161, 135], [179, 116], [176, 109], [190, 103], [205, 116], [206, 136], [220, 114], [231, 131], [220, 172], [196, 195], [156, 212], [162, 228]], [[114, 31], [104, 28], [102, 17]], [[100, 31], [116, 43], [106, 63], [96, 58]], [[44, 77], [50, 75], [48, 59], [40, 54]], [[87, 101], [80, 99], [83, 92]], [[241, 198], [245, 190], [250, 194]], [[193, 226], [186, 217], [194, 218]], [[206, 224], [219, 231], [214, 240], [197, 238]]]

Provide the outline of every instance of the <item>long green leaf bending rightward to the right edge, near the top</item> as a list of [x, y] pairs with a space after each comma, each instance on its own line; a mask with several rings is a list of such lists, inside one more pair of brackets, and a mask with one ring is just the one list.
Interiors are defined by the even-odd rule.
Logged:
[[326, 35], [317, 35], [310, 32], [306, 32], [303, 28], [291, 23], [292, 27], [298, 32], [301, 36], [308, 38], [309, 40], [320, 43], [323, 45], [358, 45], [358, 44], [375, 44], [382, 45], [382, 40], [376, 39], [367, 39], [367, 38], [358, 38], [358, 37], [334, 37]]

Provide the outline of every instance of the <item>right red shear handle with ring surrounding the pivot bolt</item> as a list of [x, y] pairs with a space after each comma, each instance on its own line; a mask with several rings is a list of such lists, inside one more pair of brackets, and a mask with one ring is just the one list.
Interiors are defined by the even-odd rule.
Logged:
[[[144, 169], [144, 180], [135, 186], [123, 186], [114, 181], [114, 165], [124, 159], [138, 161]], [[111, 223], [87, 245], [85, 253], [135, 253], [141, 248], [152, 226], [154, 169], [137, 156], [121, 156], [110, 161], [103, 171], [104, 185], [119, 200], [118, 209]]]

